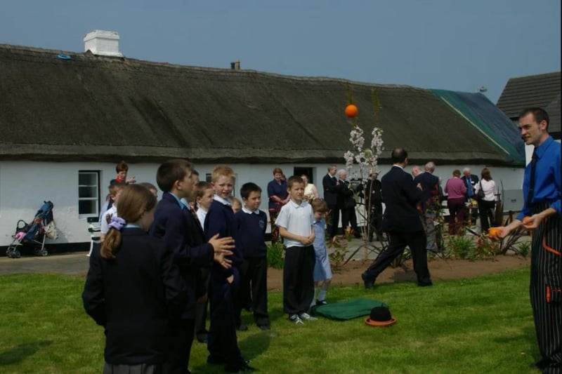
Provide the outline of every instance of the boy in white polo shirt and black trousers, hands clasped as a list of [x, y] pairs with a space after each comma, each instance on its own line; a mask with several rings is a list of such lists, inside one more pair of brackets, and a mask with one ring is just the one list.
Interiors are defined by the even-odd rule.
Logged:
[[293, 175], [287, 180], [289, 202], [282, 206], [275, 225], [285, 239], [283, 267], [283, 312], [289, 321], [302, 325], [314, 321], [306, 311], [314, 298], [314, 216], [311, 204], [303, 200], [304, 182]]

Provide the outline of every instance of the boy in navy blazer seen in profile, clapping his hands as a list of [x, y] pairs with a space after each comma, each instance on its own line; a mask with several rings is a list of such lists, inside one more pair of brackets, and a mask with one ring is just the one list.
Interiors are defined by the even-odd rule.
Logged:
[[[156, 181], [164, 195], [154, 213], [150, 235], [162, 238], [174, 253], [188, 288], [187, 303], [181, 321], [171, 331], [165, 373], [189, 373], [189, 356], [195, 331], [195, 300], [200, 267], [211, 263], [230, 267], [224, 255], [232, 254], [233, 238], [218, 235], [205, 239], [200, 224], [181, 199], [190, 199], [193, 189], [192, 163], [173, 159], [159, 166]], [[214, 260], [214, 262], [213, 262]]]

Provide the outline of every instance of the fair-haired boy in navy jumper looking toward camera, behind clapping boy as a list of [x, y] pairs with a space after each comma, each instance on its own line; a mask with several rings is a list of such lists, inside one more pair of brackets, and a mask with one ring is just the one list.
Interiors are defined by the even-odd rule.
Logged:
[[[233, 192], [235, 174], [232, 168], [219, 165], [211, 174], [211, 185], [215, 191], [214, 201], [205, 217], [204, 232], [209, 238], [237, 237], [234, 211], [230, 202]], [[214, 264], [211, 268], [211, 283], [209, 286], [209, 302], [211, 323], [207, 349], [209, 349], [208, 363], [224, 363], [228, 373], [251, 371], [248, 362], [242, 359], [238, 348], [235, 321], [235, 298], [237, 286], [240, 284], [238, 267], [242, 264], [242, 251], [235, 242], [233, 255], [228, 256], [233, 267], [225, 269]]]

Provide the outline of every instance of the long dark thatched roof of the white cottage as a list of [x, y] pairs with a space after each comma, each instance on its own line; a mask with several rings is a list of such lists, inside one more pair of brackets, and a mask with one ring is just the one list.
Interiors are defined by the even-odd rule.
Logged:
[[385, 147], [405, 147], [412, 162], [524, 162], [429, 90], [9, 45], [0, 45], [0, 159], [342, 163], [346, 84], [367, 142], [376, 89]]

